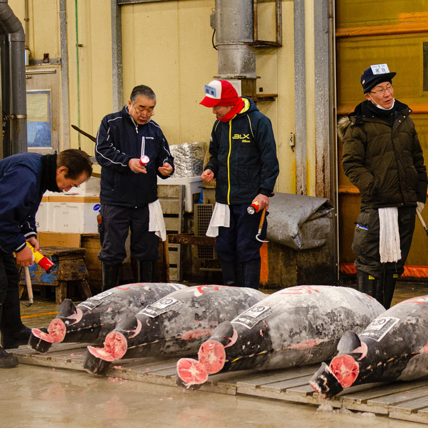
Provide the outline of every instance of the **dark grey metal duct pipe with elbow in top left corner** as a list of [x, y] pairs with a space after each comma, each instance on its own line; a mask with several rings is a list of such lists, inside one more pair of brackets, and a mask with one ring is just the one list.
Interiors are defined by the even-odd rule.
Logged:
[[3, 35], [0, 39], [2, 107], [10, 124], [9, 138], [3, 141], [3, 157], [6, 157], [27, 152], [25, 33], [7, 0], [0, 0], [0, 33]]

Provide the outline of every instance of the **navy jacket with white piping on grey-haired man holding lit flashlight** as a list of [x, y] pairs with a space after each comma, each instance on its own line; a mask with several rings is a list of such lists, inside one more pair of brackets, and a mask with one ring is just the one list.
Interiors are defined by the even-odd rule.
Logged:
[[[144, 154], [150, 161], [147, 174], [136, 174], [128, 162], [143, 155], [143, 141]], [[158, 167], [168, 162], [174, 172], [174, 158], [160, 126], [153, 120], [138, 125], [128, 113], [128, 105], [101, 121], [95, 158], [102, 167], [100, 199], [106, 205], [140, 207], [154, 202], [158, 199], [157, 176], [168, 178], [160, 174]]]

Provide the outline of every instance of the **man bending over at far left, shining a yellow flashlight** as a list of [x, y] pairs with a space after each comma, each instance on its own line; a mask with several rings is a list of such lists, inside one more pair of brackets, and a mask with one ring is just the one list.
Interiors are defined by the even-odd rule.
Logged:
[[[21, 321], [17, 264], [33, 264], [36, 251], [36, 212], [46, 190], [68, 191], [92, 174], [87, 153], [69, 149], [58, 155], [21, 153], [0, 160], [0, 331], [3, 348], [25, 345], [30, 329]], [[13, 257], [16, 255], [16, 261]], [[0, 348], [0, 368], [14, 367], [18, 359]]]

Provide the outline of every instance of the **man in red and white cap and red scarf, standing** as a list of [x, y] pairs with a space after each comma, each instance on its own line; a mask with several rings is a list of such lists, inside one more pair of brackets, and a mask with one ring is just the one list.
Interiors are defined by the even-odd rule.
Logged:
[[[272, 125], [227, 80], [205, 85], [200, 104], [211, 107], [217, 119], [211, 131], [211, 157], [201, 175], [208, 182], [216, 179], [216, 204], [207, 235], [217, 236], [224, 284], [258, 288], [262, 244], [256, 235], [279, 173]], [[247, 208], [253, 203], [259, 209], [250, 215]], [[267, 227], [265, 220], [260, 239]]]

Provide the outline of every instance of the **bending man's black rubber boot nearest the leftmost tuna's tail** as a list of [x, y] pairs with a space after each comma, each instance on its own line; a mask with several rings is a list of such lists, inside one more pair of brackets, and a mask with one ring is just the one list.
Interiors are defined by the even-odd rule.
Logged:
[[18, 348], [19, 345], [27, 345], [31, 329], [21, 321], [18, 288], [8, 288], [5, 301], [1, 306], [3, 306], [0, 321], [2, 347], [11, 349]]

